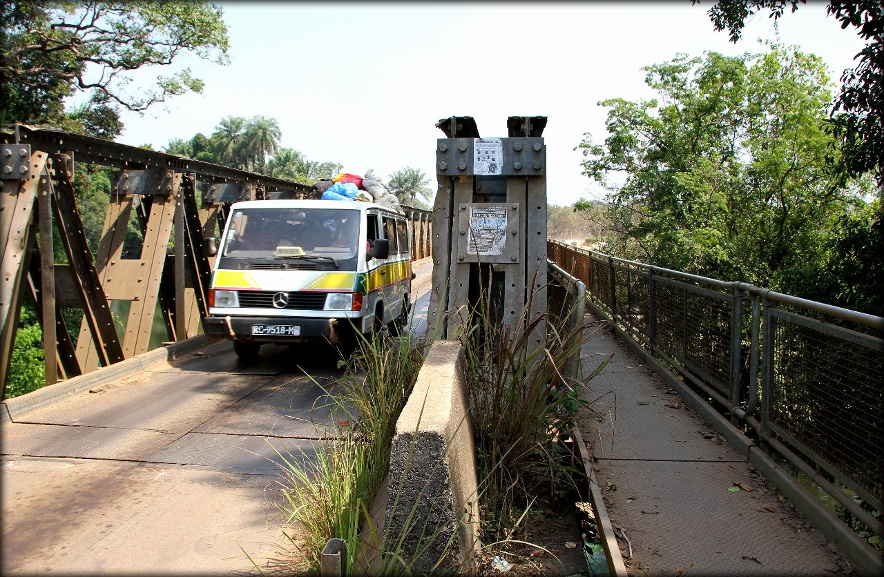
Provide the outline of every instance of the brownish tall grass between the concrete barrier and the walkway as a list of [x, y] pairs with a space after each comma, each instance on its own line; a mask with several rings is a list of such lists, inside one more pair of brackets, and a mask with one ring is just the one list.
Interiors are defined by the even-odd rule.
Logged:
[[[568, 438], [576, 409], [587, 405], [581, 390], [607, 361], [585, 376], [578, 363], [577, 375], [567, 375], [568, 362], [593, 334], [590, 323], [562, 328], [547, 313], [530, 315], [531, 292], [520, 315], [501, 326], [492, 322], [491, 291], [483, 294], [458, 338], [476, 437], [483, 535], [507, 539], [517, 512], [538, 494], [547, 492], [552, 500], [563, 483], [572, 482], [558, 441]], [[532, 333], [544, 328], [545, 345], [532, 350]]]

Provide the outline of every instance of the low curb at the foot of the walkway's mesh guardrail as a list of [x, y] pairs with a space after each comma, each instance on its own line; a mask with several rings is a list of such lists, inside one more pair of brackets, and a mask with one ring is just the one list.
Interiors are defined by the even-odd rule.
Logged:
[[865, 540], [847, 527], [833, 512], [820, 505], [819, 499], [813, 497], [810, 492], [792, 478], [792, 475], [789, 475], [783, 467], [771, 459], [761, 447], [755, 444], [749, 437], [743, 435], [740, 429], [737, 429], [730, 421], [716, 411], [713, 406], [679, 380], [672, 371], [660, 364], [650, 351], [636, 343], [616, 323], [613, 323], [598, 305], [588, 299], [587, 306], [594, 315], [610, 323], [614, 334], [621, 339], [621, 342], [629, 345], [629, 348], [641, 357], [648, 367], [660, 378], [677, 391], [679, 396], [697, 411], [697, 414], [703, 417], [713, 429], [716, 429], [723, 437], [728, 439], [728, 444], [735, 451], [743, 455], [752, 467], [758, 469], [758, 472], [764, 475], [768, 482], [779, 489], [789, 503], [795, 505], [796, 510], [804, 514], [804, 517], [811, 521], [812, 525], [819, 529], [820, 533], [826, 535], [826, 538], [834, 543], [835, 547], [850, 561], [851, 565], [857, 568], [859, 573], [864, 575], [880, 575], [884, 573], [884, 557], [881, 557], [880, 553], [874, 550], [868, 543], [865, 543]]

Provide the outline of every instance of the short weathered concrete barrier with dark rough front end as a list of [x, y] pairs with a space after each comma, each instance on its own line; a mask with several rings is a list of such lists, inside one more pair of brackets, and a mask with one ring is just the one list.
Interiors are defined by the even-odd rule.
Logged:
[[[476, 450], [461, 345], [430, 347], [415, 389], [396, 422], [385, 515], [387, 550], [399, 549], [415, 573], [469, 562], [479, 521]], [[443, 558], [444, 557], [444, 558]]]

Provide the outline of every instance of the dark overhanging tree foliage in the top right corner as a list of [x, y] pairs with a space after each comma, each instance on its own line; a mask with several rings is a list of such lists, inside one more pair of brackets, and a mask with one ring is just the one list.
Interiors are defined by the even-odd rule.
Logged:
[[[804, 0], [719, 0], [708, 14], [716, 30], [727, 30], [731, 42], [737, 42], [753, 14], [769, 11], [779, 19], [787, 6], [794, 12], [799, 4]], [[884, 5], [880, 0], [831, 0], [827, 12], [868, 42], [857, 54], [857, 66], [844, 71], [831, 110], [828, 129], [841, 143], [840, 174], [857, 178], [871, 172], [884, 194]]]

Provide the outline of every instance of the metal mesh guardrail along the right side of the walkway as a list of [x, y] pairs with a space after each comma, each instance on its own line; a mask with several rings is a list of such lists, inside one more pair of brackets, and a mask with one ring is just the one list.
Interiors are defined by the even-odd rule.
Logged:
[[[625, 333], [878, 535], [884, 318], [550, 240]], [[842, 487], [839, 487], [841, 485]]]

